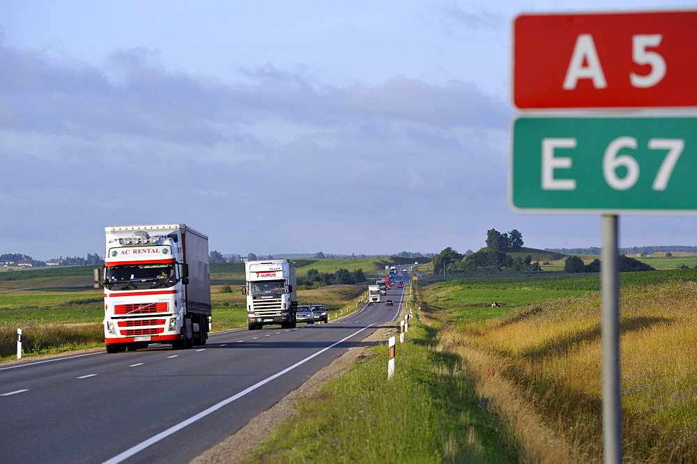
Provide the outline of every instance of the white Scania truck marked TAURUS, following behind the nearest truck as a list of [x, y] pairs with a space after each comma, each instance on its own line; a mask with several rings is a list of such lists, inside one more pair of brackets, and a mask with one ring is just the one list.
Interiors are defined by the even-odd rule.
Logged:
[[296, 327], [296, 263], [289, 259], [247, 261], [245, 275], [247, 327], [250, 330], [277, 324], [284, 329]]

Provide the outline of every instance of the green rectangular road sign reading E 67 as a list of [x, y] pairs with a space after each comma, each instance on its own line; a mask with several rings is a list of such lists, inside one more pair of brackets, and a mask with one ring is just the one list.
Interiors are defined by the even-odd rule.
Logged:
[[529, 212], [696, 212], [697, 117], [514, 121], [509, 199]]

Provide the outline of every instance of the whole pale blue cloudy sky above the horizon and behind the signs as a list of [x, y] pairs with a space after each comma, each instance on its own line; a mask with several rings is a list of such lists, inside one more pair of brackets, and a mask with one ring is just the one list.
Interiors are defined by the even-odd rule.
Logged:
[[[620, 1], [613, 10], [695, 8]], [[184, 223], [224, 254], [602, 245], [507, 203], [512, 20], [604, 0], [0, 0], [0, 254]], [[694, 194], [694, 192], [689, 192]], [[622, 216], [620, 245], [697, 245]]]

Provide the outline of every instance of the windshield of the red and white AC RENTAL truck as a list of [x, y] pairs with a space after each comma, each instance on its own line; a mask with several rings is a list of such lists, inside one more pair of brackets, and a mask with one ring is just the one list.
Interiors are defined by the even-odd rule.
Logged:
[[128, 264], [105, 269], [105, 286], [109, 289], [171, 287], [175, 281], [174, 265], [171, 264]]

